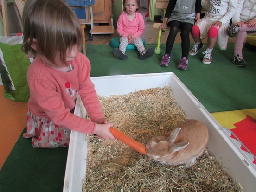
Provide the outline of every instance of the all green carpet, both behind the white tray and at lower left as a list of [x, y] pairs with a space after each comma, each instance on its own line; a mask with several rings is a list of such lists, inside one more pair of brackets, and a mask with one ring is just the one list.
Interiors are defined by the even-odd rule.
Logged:
[[[155, 47], [156, 45], [146, 45]], [[192, 45], [191, 45], [192, 46]], [[112, 54], [110, 45], [86, 45], [91, 76], [174, 72], [209, 112], [256, 108], [256, 62], [254, 51], [244, 48], [245, 68], [231, 63], [233, 44], [227, 51], [218, 45], [210, 65], [201, 63], [201, 52], [189, 56], [188, 68], [178, 70], [181, 46], [175, 44], [168, 67], [159, 66], [162, 53], [147, 60], [138, 59], [137, 51], [127, 51], [128, 60]], [[63, 190], [67, 148], [34, 149], [30, 139], [19, 138], [0, 171], [0, 192], [61, 192]]]

